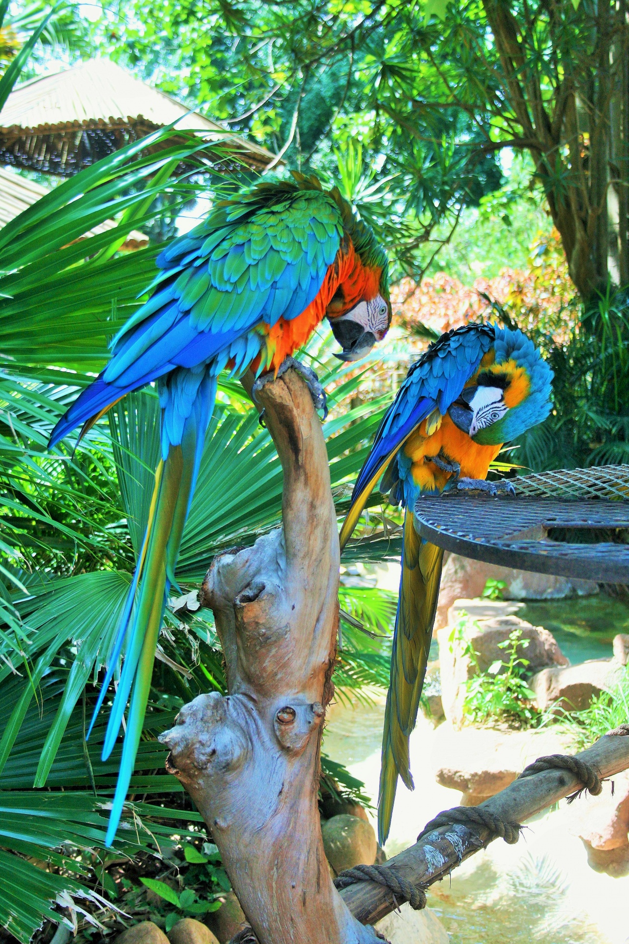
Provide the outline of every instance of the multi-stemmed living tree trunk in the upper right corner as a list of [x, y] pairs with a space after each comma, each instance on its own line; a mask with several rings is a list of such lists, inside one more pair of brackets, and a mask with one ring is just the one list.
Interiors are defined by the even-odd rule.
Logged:
[[[620, 278], [622, 283], [629, 278], [629, 204], [624, 184], [629, 175], [624, 109], [627, 27], [625, 0], [619, 2], [618, 9], [609, 0], [592, 7], [581, 4], [581, 48], [575, 51], [567, 48], [566, 27], [558, 8], [539, 3], [529, 22], [522, 19], [521, 8], [508, 0], [483, 0], [500, 56], [497, 78], [505, 103], [492, 108], [498, 114], [501, 108], [510, 112], [511, 126], [517, 123], [521, 139], [530, 142], [520, 146], [529, 150], [535, 163], [571, 279], [585, 302], [597, 293], [604, 294], [607, 287], [609, 211], [619, 218], [613, 227], [613, 241], [620, 238], [615, 258], [612, 256], [612, 280]], [[532, 24], [546, 9], [548, 49], [542, 56]], [[617, 140], [620, 128], [622, 140]], [[618, 196], [616, 191], [610, 193], [612, 179], [618, 180], [613, 171], [616, 155], [621, 161], [622, 180], [616, 184]]]

